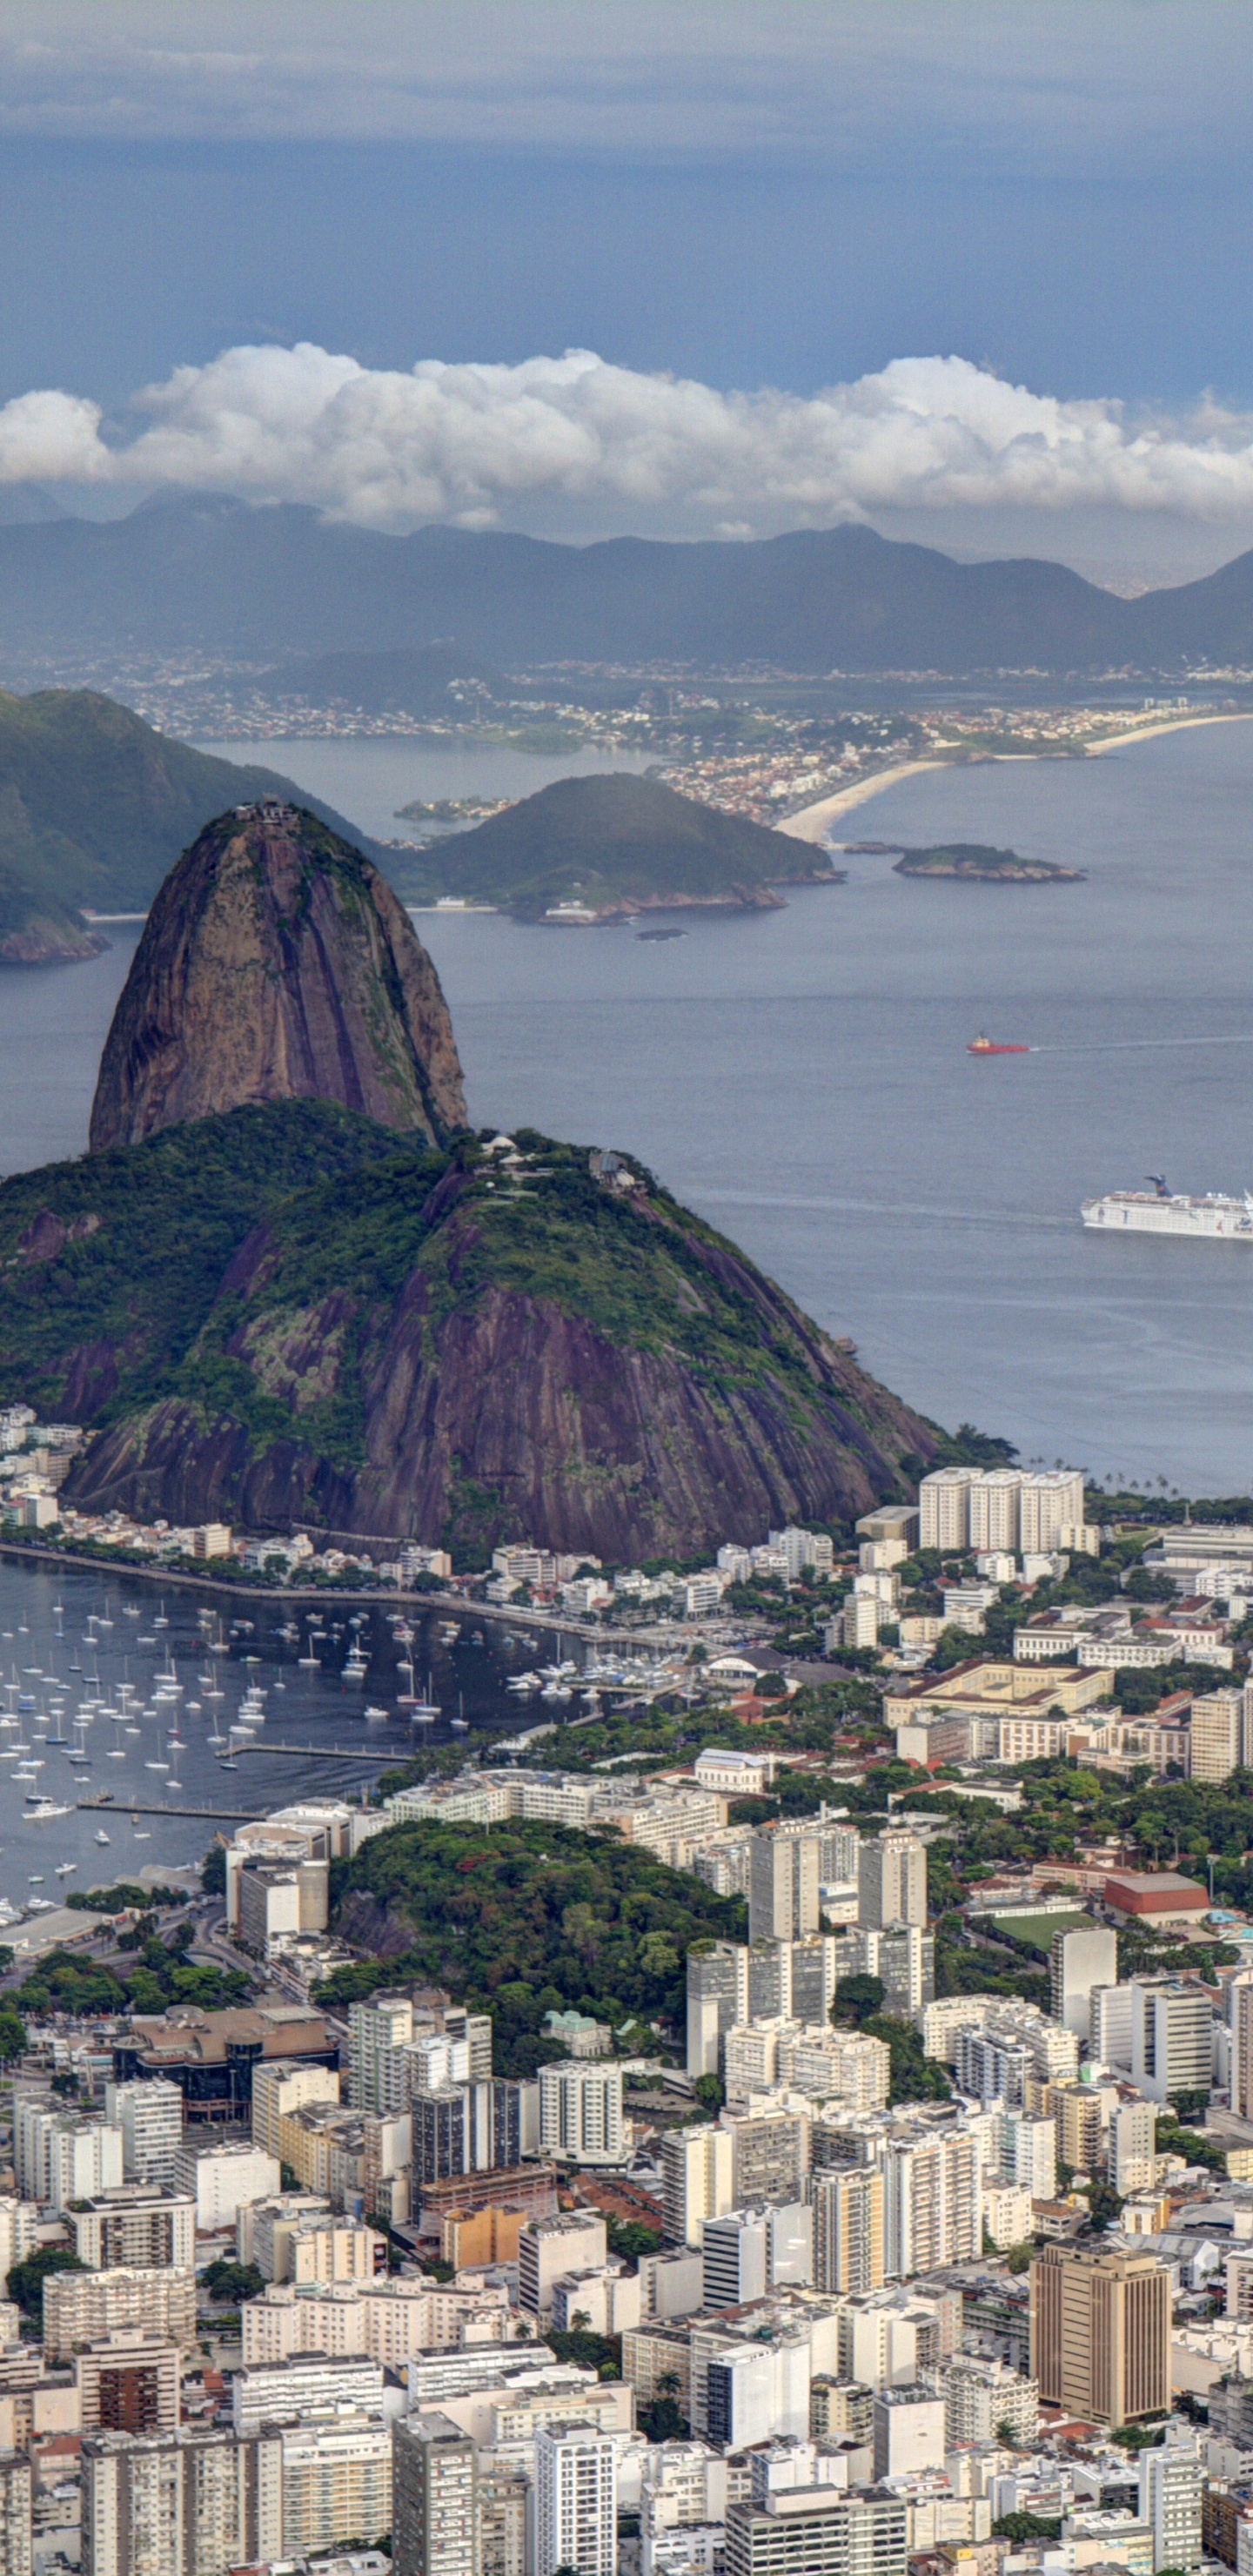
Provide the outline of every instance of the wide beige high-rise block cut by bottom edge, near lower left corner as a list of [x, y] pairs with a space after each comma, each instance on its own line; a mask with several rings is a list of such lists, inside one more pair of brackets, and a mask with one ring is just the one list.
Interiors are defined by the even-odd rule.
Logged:
[[83, 2442], [83, 2576], [227, 2576], [284, 2553], [276, 2432]]

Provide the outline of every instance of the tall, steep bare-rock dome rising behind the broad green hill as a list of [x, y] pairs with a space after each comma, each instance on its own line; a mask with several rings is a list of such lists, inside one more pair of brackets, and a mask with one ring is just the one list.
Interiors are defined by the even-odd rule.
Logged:
[[438, 974], [361, 850], [263, 799], [165, 878], [101, 1059], [93, 1154], [258, 1100], [335, 1100], [441, 1141], [464, 1123]]

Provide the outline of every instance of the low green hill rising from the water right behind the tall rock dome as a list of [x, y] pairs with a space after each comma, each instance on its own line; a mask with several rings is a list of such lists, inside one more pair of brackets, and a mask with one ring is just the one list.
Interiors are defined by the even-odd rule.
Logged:
[[773, 907], [773, 886], [835, 876], [810, 842], [619, 770], [557, 778], [405, 863], [405, 886], [428, 899], [500, 904], [529, 922], [554, 904], [601, 917], [652, 904]]

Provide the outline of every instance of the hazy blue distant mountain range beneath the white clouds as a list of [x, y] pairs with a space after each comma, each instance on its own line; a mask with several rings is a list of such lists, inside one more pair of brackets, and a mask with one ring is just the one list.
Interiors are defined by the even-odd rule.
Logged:
[[85, 644], [240, 659], [443, 644], [523, 667], [1170, 672], [1253, 665], [1253, 554], [1119, 600], [1062, 564], [954, 564], [869, 528], [557, 546], [467, 528], [376, 536], [217, 497], [150, 502], [108, 526], [0, 526], [0, 652]]

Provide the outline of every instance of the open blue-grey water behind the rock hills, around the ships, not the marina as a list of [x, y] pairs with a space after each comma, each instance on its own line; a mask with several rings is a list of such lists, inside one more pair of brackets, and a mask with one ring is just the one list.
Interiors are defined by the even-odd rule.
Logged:
[[[397, 742], [271, 757], [374, 829], [410, 793], [487, 791], [500, 760], [469, 775], [467, 755], [451, 788]], [[938, 1422], [1098, 1476], [1250, 1489], [1253, 1247], [1111, 1242], [1078, 1208], [1145, 1172], [1253, 1185], [1253, 724], [936, 770], [846, 829], [1088, 878], [920, 884], [848, 858], [846, 886], [688, 914], [673, 943], [425, 914], [474, 1123], [642, 1154]], [[0, 1167], [83, 1151], [131, 945], [3, 974]], [[1042, 1054], [977, 1061], [980, 1028]]]

